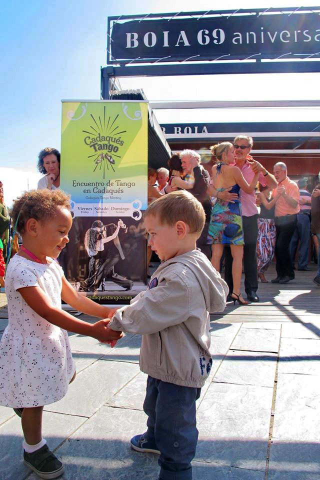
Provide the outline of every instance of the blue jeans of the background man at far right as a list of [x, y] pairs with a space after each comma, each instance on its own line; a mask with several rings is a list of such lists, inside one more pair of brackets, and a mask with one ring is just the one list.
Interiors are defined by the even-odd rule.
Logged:
[[306, 213], [298, 213], [298, 221], [291, 238], [290, 256], [292, 266], [294, 266], [295, 253], [299, 240], [298, 268], [304, 268], [308, 264], [310, 245], [310, 216]]

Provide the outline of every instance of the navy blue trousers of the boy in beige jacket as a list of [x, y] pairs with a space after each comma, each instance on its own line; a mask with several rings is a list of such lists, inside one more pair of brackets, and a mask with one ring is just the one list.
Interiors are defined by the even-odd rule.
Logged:
[[145, 438], [160, 450], [159, 480], [191, 480], [198, 430], [195, 400], [201, 388], [179, 386], [148, 376], [143, 410]]

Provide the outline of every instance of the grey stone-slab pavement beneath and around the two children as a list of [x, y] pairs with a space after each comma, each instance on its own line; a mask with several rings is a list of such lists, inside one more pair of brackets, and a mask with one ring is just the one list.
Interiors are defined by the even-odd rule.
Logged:
[[[211, 316], [213, 368], [197, 402], [194, 480], [319, 480], [320, 289], [314, 275], [296, 272], [286, 285], [260, 284], [259, 303], [228, 304]], [[3, 331], [5, 308], [0, 317]], [[70, 341], [77, 377], [43, 415], [44, 437], [65, 463], [61, 479], [155, 480], [157, 456], [128, 446], [146, 419], [139, 336], [126, 335], [113, 349], [77, 334]], [[19, 418], [0, 407], [1, 480], [37, 478], [21, 461], [21, 441]]]

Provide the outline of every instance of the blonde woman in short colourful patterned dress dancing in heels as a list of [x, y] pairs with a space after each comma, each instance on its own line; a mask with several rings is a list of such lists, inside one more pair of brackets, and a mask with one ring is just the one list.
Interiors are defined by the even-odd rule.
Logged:
[[[220, 191], [228, 190], [230, 193], [239, 193], [240, 188], [246, 193], [252, 193], [255, 188], [258, 173], [254, 175], [250, 184], [243, 178], [240, 168], [234, 163], [234, 149], [232, 143], [223, 141], [210, 147], [218, 162], [212, 166], [212, 185], [217, 190], [217, 198], [212, 207], [209, 223], [209, 235], [212, 237], [211, 262], [214, 268], [219, 271], [220, 258], [224, 245], [230, 245], [232, 254], [232, 279], [233, 291], [231, 297], [233, 303], [238, 301], [245, 305], [240, 292], [240, 280], [242, 272], [243, 256], [243, 230], [241, 204], [239, 199], [234, 202], [223, 201], [218, 197]], [[210, 193], [210, 187], [209, 187]]]

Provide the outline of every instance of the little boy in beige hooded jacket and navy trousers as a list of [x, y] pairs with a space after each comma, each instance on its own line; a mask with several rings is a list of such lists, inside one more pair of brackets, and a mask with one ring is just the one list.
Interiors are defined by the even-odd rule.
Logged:
[[144, 214], [149, 244], [161, 260], [148, 289], [117, 310], [108, 327], [140, 333], [140, 369], [148, 374], [147, 430], [134, 450], [158, 453], [159, 480], [191, 480], [198, 431], [195, 400], [212, 358], [209, 312], [225, 307], [227, 285], [196, 249], [205, 215], [190, 193], [174, 191]]

